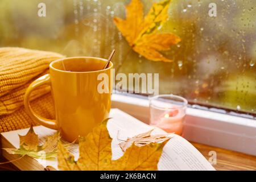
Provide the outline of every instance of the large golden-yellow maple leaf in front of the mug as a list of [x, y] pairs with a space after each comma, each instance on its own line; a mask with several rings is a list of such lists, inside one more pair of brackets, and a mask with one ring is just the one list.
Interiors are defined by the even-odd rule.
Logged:
[[125, 154], [112, 160], [112, 138], [106, 124], [108, 119], [95, 127], [86, 137], [79, 139], [79, 159], [75, 160], [61, 142], [58, 143], [58, 168], [60, 170], [157, 170], [164, 145], [162, 143], [135, 146], [133, 143]]

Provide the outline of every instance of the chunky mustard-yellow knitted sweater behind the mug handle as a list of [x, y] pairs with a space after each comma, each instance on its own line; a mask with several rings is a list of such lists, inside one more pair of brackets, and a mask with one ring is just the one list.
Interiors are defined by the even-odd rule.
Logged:
[[[0, 48], [0, 133], [36, 125], [23, 106], [28, 85], [48, 72], [51, 61], [64, 57], [58, 53], [16, 47]], [[49, 86], [31, 95], [32, 109], [53, 119], [54, 106]]]

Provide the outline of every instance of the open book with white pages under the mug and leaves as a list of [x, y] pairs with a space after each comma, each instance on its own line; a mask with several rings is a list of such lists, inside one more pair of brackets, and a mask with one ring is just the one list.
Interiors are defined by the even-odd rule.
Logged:
[[[112, 159], [118, 159], [123, 155], [121, 148], [118, 146], [120, 139], [131, 138], [153, 128], [118, 109], [112, 109], [110, 117], [112, 119], [109, 120], [107, 127], [110, 137], [113, 138]], [[18, 134], [25, 135], [27, 131], [28, 129], [23, 129], [1, 133], [2, 148], [18, 148]], [[56, 132], [43, 126], [34, 127], [34, 131], [41, 140], [47, 135], [52, 135]], [[165, 134], [165, 131], [155, 128], [152, 134]], [[163, 153], [158, 163], [159, 170], [215, 170], [191, 143], [179, 135], [173, 135], [163, 148]], [[77, 159], [79, 157], [78, 145], [74, 144], [72, 148], [74, 149], [72, 153]], [[8, 160], [20, 158], [20, 156], [8, 154], [4, 150], [2, 150], [2, 155]], [[13, 164], [21, 170], [44, 170], [47, 166], [57, 169], [56, 160], [34, 159], [29, 156], [24, 156], [22, 159], [13, 162]]]

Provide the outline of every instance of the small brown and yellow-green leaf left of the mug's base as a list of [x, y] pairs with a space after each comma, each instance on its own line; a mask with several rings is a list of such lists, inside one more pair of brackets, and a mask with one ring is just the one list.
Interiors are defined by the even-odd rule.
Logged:
[[60, 139], [59, 133], [46, 138], [43, 145], [39, 145], [38, 135], [31, 126], [27, 134], [19, 135], [19, 148], [3, 148], [9, 154], [28, 155], [32, 158], [48, 159], [54, 158], [57, 154], [57, 142]]

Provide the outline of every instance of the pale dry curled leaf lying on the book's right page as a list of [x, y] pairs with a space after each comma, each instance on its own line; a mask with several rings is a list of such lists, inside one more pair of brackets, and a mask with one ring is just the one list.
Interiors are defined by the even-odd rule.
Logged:
[[172, 138], [170, 135], [166, 134], [151, 135], [153, 130], [154, 129], [147, 131], [146, 133], [136, 135], [133, 138], [127, 138], [125, 142], [119, 143], [119, 146], [122, 151], [125, 152], [133, 143], [135, 146], [141, 147], [150, 143], [164, 142], [165, 140]]

